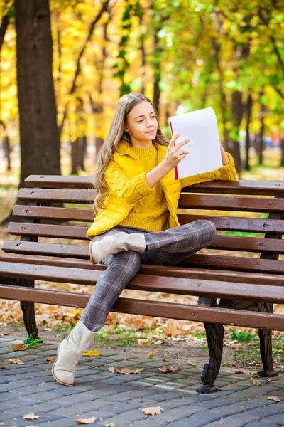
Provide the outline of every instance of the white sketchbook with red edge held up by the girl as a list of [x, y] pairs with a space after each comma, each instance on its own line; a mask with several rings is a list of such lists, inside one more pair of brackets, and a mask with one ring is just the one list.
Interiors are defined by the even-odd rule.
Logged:
[[182, 149], [189, 154], [174, 169], [174, 178], [204, 174], [222, 167], [217, 118], [212, 107], [169, 118], [172, 135], [180, 134], [175, 144], [190, 139]]

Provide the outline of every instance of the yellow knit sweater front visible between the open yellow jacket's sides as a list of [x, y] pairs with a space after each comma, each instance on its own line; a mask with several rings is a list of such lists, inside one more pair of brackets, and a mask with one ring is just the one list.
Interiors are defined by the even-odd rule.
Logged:
[[[136, 148], [131, 147], [137, 155], [145, 172], [150, 172], [158, 166], [158, 151], [156, 147]], [[168, 205], [165, 200], [165, 193], [160, 182], [154, 186], [153, 191], [148, 196], [141, 197], [131, 209], [128, 216], [121, 221], [121, 226], [131, 226], [145, 228], [149, 231], [165, 230], [168, 219]]]

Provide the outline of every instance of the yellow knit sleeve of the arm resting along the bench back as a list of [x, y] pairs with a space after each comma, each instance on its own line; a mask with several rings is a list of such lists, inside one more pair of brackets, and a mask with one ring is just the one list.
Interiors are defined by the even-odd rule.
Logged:
[[229, 157], [229, 163], [224, 166], [216, 169], [212, 172], [207, 172], [205, 174], [199, 174], [195, 176], [188, 176], [187, 178], [182, 178], [182, 188], [194, 184], [201, 184], [202, 182], [220, 180], [220, 181], [236, 181], [236, 169], [235, 162], [231, 154], [226, 152], [226, 155]]

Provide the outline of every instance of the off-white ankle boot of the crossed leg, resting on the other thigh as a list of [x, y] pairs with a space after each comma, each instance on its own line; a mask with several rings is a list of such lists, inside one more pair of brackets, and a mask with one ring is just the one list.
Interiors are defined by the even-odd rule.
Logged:
[[93, 264], [100, 263], [107, 256], [122, 251], [145, 251], [146, 243], [143, 233], [127, 234], [120, 231], [106, 236], [99, 241], [89, 243], [89, 256]]

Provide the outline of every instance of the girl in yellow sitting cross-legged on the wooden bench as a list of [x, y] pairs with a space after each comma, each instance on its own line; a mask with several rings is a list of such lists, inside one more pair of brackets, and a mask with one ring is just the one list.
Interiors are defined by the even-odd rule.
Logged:
[[58, 347], [53, 377], [74, 384], [75, 367], [95, 332], [140, 264], [174, 265], [214, 239], [214, 224], [197, 220], [180, 226], [177, 216], [182, 187], [212, 179], [235, 180], [230, 154], [220, 145], [223, 167], [173, 179], [173, 168], [187, 156], [160, 130], [155, 108], [144, 95], [130, 93], [119, 100], [109, 136], [98, 154], [94, 187], [94, 223], [87, 231], [92, 263], [107, 265], [81, 320]]

